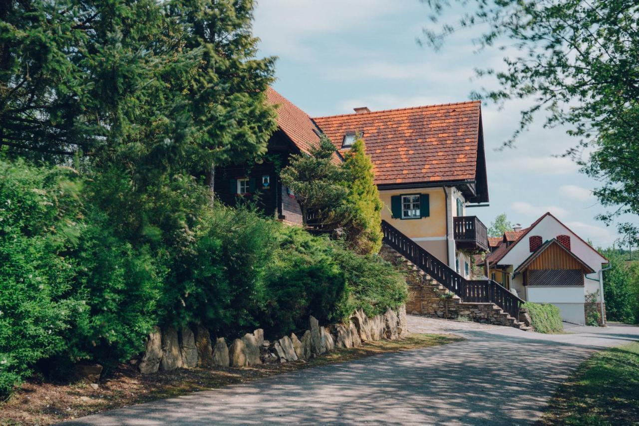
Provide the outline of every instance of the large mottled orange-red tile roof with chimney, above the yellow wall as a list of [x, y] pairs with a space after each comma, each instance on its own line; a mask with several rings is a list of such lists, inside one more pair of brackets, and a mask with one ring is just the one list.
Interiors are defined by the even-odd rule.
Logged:
[[475, 179], [481, 103], [447, 103], [362, 114], [317, 117], [341, 148], [348, 132], [363, 132], [375, 183]]

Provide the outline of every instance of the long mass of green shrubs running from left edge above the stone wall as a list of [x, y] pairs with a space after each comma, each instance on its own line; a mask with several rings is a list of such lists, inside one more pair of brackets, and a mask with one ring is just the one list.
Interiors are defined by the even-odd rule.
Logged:
[[[202, 207], [189, 201], [204, 197], [198, 186], [170, 184], [176, 200], [158, 204], [159, 194], [136, 209], [117, 174], [84, 179], [0, 161], [0, 394], [36, 370], [64, 377], [83, 360], [109, 371], [139, 353], [156, 324], [202, 324], [225, 337], [262, 326], [279, 337], [309, 315], [340, 321], [406, 300], [403, 276], [377, 255], [248, 207]], [[151, 214], [160, 226], [147, 224]]]

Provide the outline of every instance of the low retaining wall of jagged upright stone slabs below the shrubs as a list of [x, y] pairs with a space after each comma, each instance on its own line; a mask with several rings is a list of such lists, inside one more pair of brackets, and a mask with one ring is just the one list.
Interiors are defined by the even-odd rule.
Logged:
[[201, 326], [155, 329], [146, 340], [139, 363], [142, 374], [192, 367], [249, 367], [268, 362], [309, 360], [335, 347], [360, 347], [364, 342], [399, 339], [408, 334], [406, 307], [369, 318], [362, 310], [347, 324], [320, 326], [309, 317], [309, 329], [301, 337], [290, 336], [265, 340], [261, 328], [235, 339], [227, 345], [224, 337], [213, 342], [210, 332]]

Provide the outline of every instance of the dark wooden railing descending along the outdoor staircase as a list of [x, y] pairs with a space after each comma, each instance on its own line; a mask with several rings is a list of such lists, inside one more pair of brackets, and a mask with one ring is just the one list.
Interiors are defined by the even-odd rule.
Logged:
[[383, 241], [399, 254], [413, 262], [439, 284], [457, 294], [462, 301], [474, 303], [495, 303], [504, 312], [519, 321], [520, 306], [523, 300], [512, 294], [493, 280], [466, 280], [447, 264], [430, 254], [415, 241], [411, 240], [395, 227], [381, 221]]

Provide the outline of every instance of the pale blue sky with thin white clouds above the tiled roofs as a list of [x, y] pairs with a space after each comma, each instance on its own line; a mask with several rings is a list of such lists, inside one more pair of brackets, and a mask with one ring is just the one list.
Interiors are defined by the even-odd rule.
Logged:
[[[310, 116], [463, 102], [473, 90], [495, 87], [474, 70], [503, 69], [504, 51], [477, 52], [477, 29], [455, 34], [438, 52], [420, 47], [428, 17], [419, 0], [260, 0], [254, 34], [260, 56], [279, 57], [273, 87]], [[455, 18], [451, 11], [443, 20]], [[592, 195], [601, 183], [556, 156], [578, 142], [565, 128], [543, 128], [539, 116], [515, 148], [498, 149], [531, 104], [482, 104], [490, 205], [467, 214], [489, 226], [506, 213], [527, 227], [550, 211], [581, 238], [610, 247], [615, 227], [595, 219], [606, 211]]]

